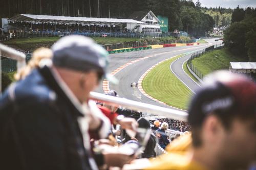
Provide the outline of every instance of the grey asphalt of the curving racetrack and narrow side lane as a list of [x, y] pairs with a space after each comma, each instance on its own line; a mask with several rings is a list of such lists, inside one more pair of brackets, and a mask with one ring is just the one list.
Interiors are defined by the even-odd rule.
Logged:
[[[108, 72], [112, 72], [113, 70], [117, 69], [118, 67], [122, 66], [125, 63], [134, 61], [139, 58], [143, 58], [148, 55], [154, 55], [159, 54], [163, 52], [170, 52], [167, 54], [161, 54], [154, 57], [146, 58], [144, 60], [135, 62], [119, 72], [115, 74], [115, 77], [119, 80], [118, 85], [113, 85], [110, 83], [110, 89], [114, 89], [117, 91], [118, 95], [121, 98], [126, 98], [138, 102], [153, 104], [157, 106], [172, 108], [170, 106], [158, 103], [156, 101], [153, 101], [146, 96], [144, 96], [137, 87], [133, 88], [131, 87], [132, 82], [138, 82], [139, 78], [144, 74], [146, 70], [151, 68], [153, 65], [155, 65], [158, 62], [161, 62], [162, 60], [165, 60], [167, 58], [172, 58], [174, 56], [184, 54], [184, 53], [190, 53], [193, 51], [200, 51], [206, 48], [207, 46], [210, 46], [212, 44], [218, 44], [220, 41], [216, 41], [214, 39], [205, 39], [209, 43], [203, 43], [200, 45], [193, 45], [193, 46], [176, 46], [176, 47], [165, 47], [165, 48], [156, 48], [151, 50], [144, 50], [144, 51], [134, 51], [134, 52], [126, 52], [126, 53], [116, 53], [109, 55], [110, 59], [110, 65], [108, 67]], [[212, 44], [211, 44], [212, 43]], [[190, 54], [191, 55], [191, 54]], [[191, 81], [189, 77], [186, 77], [187, 75], [183, 72], [182, 64], [185, 60], [189, 58], [190, 55], [186, 55], [182, 57], [182, 60], [176, 60], [174, 64], [172, 64], [173, 72], [191, 89], [195, 90], [194, 88], [197, 88], [197, 85], [195, 85], [194, 81]], [[170, 70], [172, 71], [172, 70]], [[170, 87], [172, 88], [172, 87]], [[98, 87], [97, 92], [103, 93], [102, 89], [102, 83]]]

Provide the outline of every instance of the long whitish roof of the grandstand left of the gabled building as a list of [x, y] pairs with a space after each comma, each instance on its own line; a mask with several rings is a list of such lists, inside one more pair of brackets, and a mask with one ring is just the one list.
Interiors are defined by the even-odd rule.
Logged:
[[34, 23], [59, 23], [59, 24], [84, 24], [84, 25], [120, 25], [121, 23], [143, 23], [134, 19], [117, 18], [91, 18], [91, 17], [72, 17], [72, 16], [53, 16], [53, 15], [32, 15], [17, 14], [8, 21], [34, 22]]

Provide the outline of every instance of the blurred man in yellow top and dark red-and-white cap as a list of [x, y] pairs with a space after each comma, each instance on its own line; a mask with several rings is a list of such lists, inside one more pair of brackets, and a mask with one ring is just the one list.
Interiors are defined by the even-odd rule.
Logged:
[[256, 160], [256, 84], [242, 75], [209, 75], [189, 110], [191, 150], [172, 152], [146, 169], [246, 169]]

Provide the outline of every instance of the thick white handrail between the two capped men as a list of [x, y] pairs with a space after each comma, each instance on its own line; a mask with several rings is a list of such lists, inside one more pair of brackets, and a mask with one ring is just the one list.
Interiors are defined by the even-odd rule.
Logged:
[[136, 101], [132, 101], [124, 98], [117, 98], [114, 96], [105, 95], [97, 92], [91, 92], [90, 99], [102, 101], [114, 106], [123, 106], [131, 110], [144, 111], [147, 113], [161, 115], [161, 116], [165, 116], [165, 117], [176, 119], [176, 120], [181, 120], [185, 122], [187, 121], [188, 114], [185, 111], [181, 111], [177, 109], [164, 108], [164, 107], [146, 104], [142, 102], [136, 102]]

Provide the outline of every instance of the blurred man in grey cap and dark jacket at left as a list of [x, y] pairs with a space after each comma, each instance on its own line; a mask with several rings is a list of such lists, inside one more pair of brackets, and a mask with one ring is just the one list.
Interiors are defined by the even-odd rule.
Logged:
[[67, 36], [52, 52], [52, 60], [40, 61], [0, 98], [1, 169], [98, 169], [129, 162], [116, 151], [91, 152], [89, 131], [102, 138], [110, 130], [89, 100], [105, 75], [106, 51], [89, 38]]

